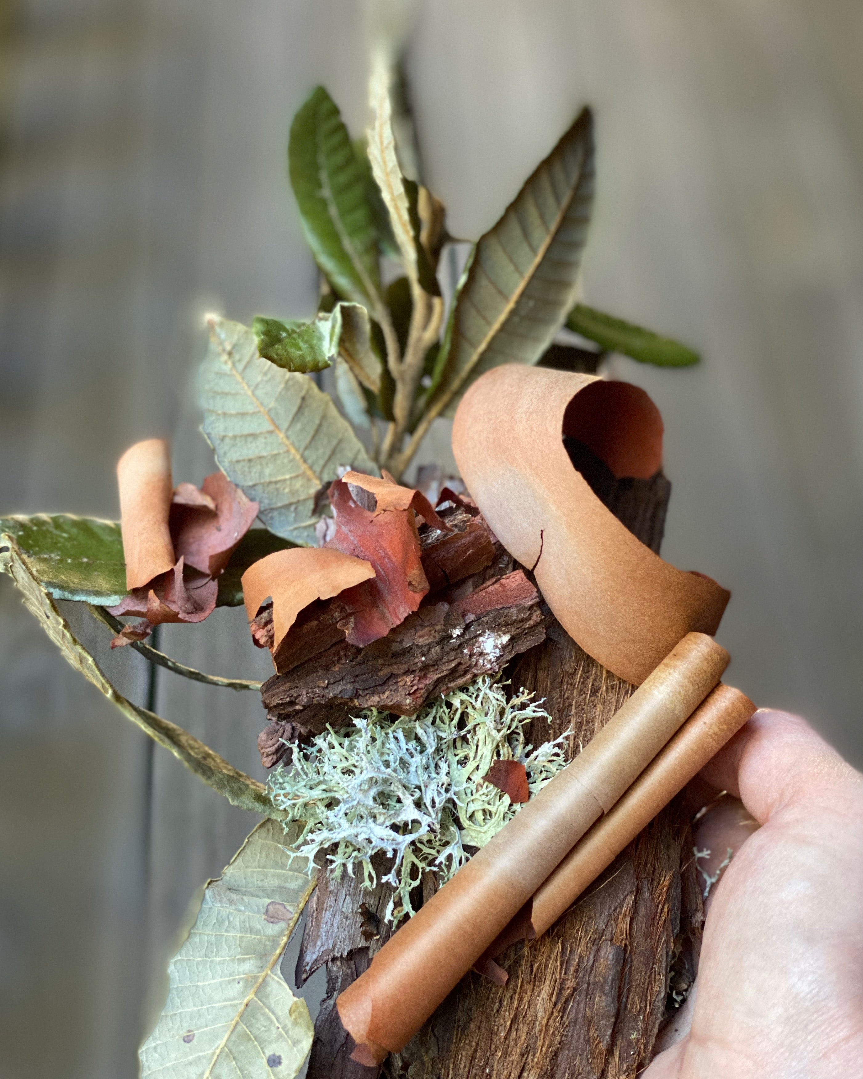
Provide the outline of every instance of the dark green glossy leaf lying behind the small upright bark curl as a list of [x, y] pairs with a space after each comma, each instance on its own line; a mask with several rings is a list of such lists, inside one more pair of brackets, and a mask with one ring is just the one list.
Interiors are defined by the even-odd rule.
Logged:
[[[117, 521], [73, 514], [0, 517], [0, 532], [15, 537], [30, 572], [55, 600], [115, 606], [126, 595], [123, 536]], [[243, 602], [241, 577], [252, 562], [290, 544], [251, 529], [219, 577], [219, 606]]]

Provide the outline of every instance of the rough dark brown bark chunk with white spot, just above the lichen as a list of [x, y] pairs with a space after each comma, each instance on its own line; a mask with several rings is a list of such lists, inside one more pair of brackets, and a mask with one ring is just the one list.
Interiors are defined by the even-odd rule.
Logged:
[[323, 730], [351, 711], [380, 708], [412, 715], [441, 693], [501, 670], [545, 638], [548, 615], [517, 570], [461, 600], [421, 607], [365, 648], [343, 641], [264, 682], [272, 718]]

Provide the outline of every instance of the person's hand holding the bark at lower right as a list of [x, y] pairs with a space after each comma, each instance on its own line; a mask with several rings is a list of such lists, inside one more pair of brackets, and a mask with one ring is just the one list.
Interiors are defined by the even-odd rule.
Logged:
[[863, 776], [804, 720], [767, 710], [702, 776], [762, 827], [711, 893], [680, 1040], [644, 1079], [863, 1076]]

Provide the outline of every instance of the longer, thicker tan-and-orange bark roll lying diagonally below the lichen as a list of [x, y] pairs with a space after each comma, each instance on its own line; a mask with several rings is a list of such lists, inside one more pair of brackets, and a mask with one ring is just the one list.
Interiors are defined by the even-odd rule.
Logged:
[[398, 1052], [716, 685], [728, 653], [687, 636], [581, 753], [375, 955], [338, 999], [353, 1056]]

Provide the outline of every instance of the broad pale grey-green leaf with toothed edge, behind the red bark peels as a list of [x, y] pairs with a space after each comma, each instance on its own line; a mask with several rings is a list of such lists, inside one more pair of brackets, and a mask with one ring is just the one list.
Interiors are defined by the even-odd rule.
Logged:
[[260, 503], [271, 532], [313, 544], [317, 492], [335, 479], [340, 465], [364, 473], [375, 473], [375, 466], [312, 379], [261, 359], [245, 326], [214, 316], [209, 327], [201, 402], [219, 467]]

